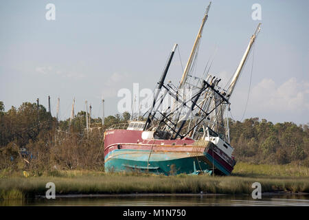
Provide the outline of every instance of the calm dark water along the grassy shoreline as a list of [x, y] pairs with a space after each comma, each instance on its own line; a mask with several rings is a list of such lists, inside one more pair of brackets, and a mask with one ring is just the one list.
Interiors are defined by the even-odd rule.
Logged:
[[0, 206], [309, 206], [309, 195], [69, 195], [56, 199], [2, 199]]

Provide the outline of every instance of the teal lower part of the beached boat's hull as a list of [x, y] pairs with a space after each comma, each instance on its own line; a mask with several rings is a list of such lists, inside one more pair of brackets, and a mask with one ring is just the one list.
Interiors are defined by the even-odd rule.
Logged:
[[181, 173], [212, 173], [207, 155], [191, 156], [190, 153], [152, 152], [146, 150], [115, 150], [105, 157], [106, 172], [155, 173], [177, 175]]

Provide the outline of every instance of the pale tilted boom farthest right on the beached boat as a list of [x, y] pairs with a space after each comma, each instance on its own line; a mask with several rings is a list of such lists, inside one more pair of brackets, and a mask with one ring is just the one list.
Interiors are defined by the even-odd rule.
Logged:
[[233, 79], [231, 80], [231, 84], [229, 85], [229, 88], [227, 89], [227, 100], [229, 100], [229, 98], [231, 98], [231, 94], [233, 93], [233, 90], [234, 90], [235, 85], [236, 85], [236, 83], [238, 81], [240, 73], [242, 72], [242, 68], [244, 67], [244, 64], [247, 61], [248, 55], [251, 52], [251, 48], [253, 46], [253, 43], [254, 43], [256, 37], [258, 36], [258, 34], [259, 34], [260, 30], [261, 30], [261, 28], [260, 28], [261, 24], [262, 23], [258, 24], [258, 27], [256, 28], [255, 32], [251, 36], [249, 45], [247, 47], [247, 50], [244, 52], [244, 55], [242, 56], [240, 64], [238, 65], [238, 67], [236, 69], [236, 72], [235, 72], [235, 74], [233, 76]]

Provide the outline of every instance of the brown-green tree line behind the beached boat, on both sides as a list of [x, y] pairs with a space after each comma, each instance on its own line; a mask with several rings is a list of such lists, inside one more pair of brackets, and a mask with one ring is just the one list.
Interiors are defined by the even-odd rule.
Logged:
[[[103, 133], [113, 124], [126, 123], [130, 113], [90, 118], [86, 112], [60, 120], [41, 104], [23, 102], [5, 111], [0, 101], [0, 169], [104, 169]], [[300, 163], [309, 166], [309, 126], [293, 122], [273, 124], [265, 119], [243, 122], [229, 118], [231, 146], [236, 160], [254, 164]], [[21, 149], [23, 149], [21, 151]]]

